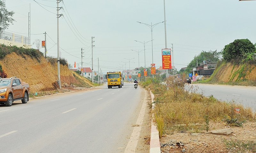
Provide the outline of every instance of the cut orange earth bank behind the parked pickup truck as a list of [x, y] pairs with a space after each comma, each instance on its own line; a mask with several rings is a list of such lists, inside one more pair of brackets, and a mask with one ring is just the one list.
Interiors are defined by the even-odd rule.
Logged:
[[[32, 49], [32, 52], [36, 51]], [[40, 54], [41, 52], [35, 57], [27, 52], [29, 49], [0, 46], [0, 65], [7, 77], [20, 78], [29, 84], [31, 92], [57, 89], [57, 60], [45, 58]], [[60, 64], [60, 81], [61, 84], [75, 84], [80, 87], [93, 86], [88, 79], [70, 71], [66, 65], [62, 64]]]

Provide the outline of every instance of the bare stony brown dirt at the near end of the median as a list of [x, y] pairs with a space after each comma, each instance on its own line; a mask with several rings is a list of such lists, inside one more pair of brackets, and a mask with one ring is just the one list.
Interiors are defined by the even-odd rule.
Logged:
[[[160, 143], [166, 144], [168, 142], [181, 142], [184, 146], [177, 147], [172, 145], [166, 145], [161, 147], [161, 153], [175, 153], [175, 152], [186, 152], [186, 153], [237, 153], [237, 152], [248, 152], [253, 151], [241, 151], [241, 146], [226, 147], [225, 141], [253, 141], [256, 142], [256, 123], [247, 121], [243, 127], [227, 127], [225, 123], [214, 122], [210, 123], [211, 130], [231, 128], [234, 132], [232, 135], [216, 135], [216, 134], [191, 134], [190, 131], [173, 132], [170, 135], [164, 135], [160, 139]], [[248, 146], [247, 146], [248, 147]], [[256, 150], [255, 150], [256, 151]]]

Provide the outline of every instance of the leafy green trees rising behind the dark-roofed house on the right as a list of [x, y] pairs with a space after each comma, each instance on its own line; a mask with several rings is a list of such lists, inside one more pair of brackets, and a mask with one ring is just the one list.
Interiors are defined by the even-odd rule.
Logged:
[[190, 71], [196, 67], [196, 61], [198, 65], [201, 62], [208, 61], [208, 62], [218, 62], [221, 57], [221, 52], [217, 52], [217, 50], [210, 50], [208, 52], [202, 51], [199, 55], [195, 56], [194, 59], [188, 64], [187, 69], [185, 69], [184, 73], [188, 74], [191, 73]]

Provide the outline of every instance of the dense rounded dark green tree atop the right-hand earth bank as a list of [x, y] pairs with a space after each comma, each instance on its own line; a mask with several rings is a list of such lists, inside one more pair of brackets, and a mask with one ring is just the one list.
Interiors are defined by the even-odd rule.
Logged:
[[237, 39], [224, 47], [222, 55], [224, 60], [228, 62], [234, 59], [241, 61], [255, 52], [255, 50], [255, 45], [250, 40]]

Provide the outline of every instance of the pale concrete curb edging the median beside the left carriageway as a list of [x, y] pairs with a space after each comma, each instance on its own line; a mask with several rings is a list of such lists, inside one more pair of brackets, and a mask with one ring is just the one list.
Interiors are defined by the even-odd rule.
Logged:
[[[149, 91], [150, 97], [151, 97], [151, 104], [152, 104], [152, 109], [154, 109], [155, 104], [154, 103], [154, 94]], [[161, 153], [160, 149], [160, 140], [159, 140], [159, 134], [156, 126], [153, 123], [153, 117], [154, 114], [152, 114], [152, 120], [151, 120], [151, 133], [150, 133], [150, 150], [149, 153]]]

